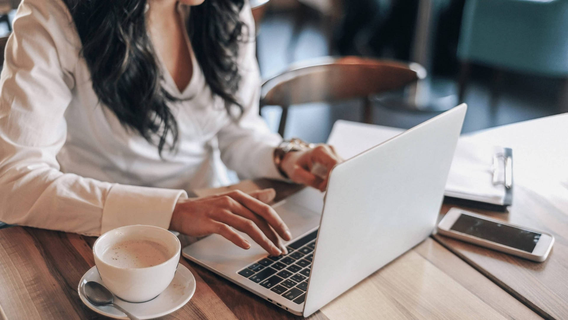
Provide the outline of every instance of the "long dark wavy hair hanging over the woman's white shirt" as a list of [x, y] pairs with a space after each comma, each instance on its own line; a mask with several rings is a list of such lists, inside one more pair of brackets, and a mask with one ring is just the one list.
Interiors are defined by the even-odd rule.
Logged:
[[[91, 73], [93, 89], [126, 128], [157, 145], [158, 153], [178, 141], [176, 119], [168, 102], [176, 101], [161, 86], [157, 63], [145, 22], [149, 0], [64, 0], [82, 42], [82, 56]], [[205, 0], [191, 7], [187, 32], [195, 57], [211, 91], [240, 113], [239, 41], [245, 23], [239, 19], [244, 0]], [[168, 142], [171, 137], [171, 143]]]

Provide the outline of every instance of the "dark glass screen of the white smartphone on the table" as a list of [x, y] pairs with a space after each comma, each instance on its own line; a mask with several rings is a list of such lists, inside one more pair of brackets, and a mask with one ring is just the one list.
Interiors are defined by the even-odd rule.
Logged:
[[515, 228], [497, 222], [460, 214], [450, 230], [473, 235], [501, 245], [532, 252], [540, 239], [540, 233]]

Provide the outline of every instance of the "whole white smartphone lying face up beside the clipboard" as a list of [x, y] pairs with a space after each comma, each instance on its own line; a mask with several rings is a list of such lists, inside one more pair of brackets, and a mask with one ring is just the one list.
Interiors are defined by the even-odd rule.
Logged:
[[552, 234], [458, 208], [446, 213], [437, 230], [448, 237], [537, 262], [546, 260], [554, 243]]

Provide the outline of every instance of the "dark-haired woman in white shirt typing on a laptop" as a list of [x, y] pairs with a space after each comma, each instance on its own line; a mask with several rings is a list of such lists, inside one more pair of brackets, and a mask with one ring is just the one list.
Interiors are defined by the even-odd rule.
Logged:
[[[290, 232], [273, 190], [188, 199], [220, 182], [289, 178], [339, 161], [282, 142], [258, 116], [254, 26], [243, 0], [24, 0], [0, 80], [0, 221], [99, 235], [148, 224], [236, 230], [272, 255]], [[193, 7], [191, 7], [193, 6]], [[326, 176], [323, 175], [323, 176]]]

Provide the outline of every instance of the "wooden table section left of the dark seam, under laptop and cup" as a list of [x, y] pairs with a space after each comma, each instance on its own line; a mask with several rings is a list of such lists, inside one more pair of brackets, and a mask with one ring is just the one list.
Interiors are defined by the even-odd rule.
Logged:
[[[274, 187], [278, 199], [300, 187], [269, 180], [237, 186]], [[197, 194], [223, 190], [196, 191]], [[181, 236], [183, 245], [195, 241]], [[94, 266], [96, 238], [13, 226], [0, 230], [0, 317], [102, 319], [82, 304], [77, 285]], [[229, 245], [229, 244], [228, 244]], [[296, 319], [222, 277], [181, 258], [197, 290], [183, 308], [162, 319]], [[330, 279], [330, 282], [333, 279]], [[564, 289], [565, 290], [565, 289]], [[556, 301], [550, 302], [554, 304]], [[539, 318], [458, 256], [428, 238], [361, 281], [310, 319]]]

